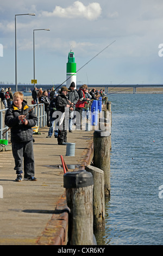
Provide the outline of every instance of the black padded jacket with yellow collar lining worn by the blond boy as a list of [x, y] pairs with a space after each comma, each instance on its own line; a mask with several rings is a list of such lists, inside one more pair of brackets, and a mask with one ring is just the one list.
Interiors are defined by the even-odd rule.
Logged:
[[[22, 102], [22, 109], [18, 109], [14, 103], [7, 109], [4, 122], [5, 125], [11, 127], [11, 142], [32, 141], [32, 127], [36, 125], [37, 117], [34, 113], [34, 109], [30, 111], [31, 109], [32, 107], [29, 107], [24, 100]], [[27, 125], [24, 125], [22, 121], [18, 119], [19, 115], [26, 115], [26, 119], [28, 120]]]

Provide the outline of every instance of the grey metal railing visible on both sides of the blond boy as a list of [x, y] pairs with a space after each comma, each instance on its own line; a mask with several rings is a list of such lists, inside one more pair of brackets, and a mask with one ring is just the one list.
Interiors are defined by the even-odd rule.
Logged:
[[[29, 105], [29, 106], [35, 106], [35, 114], [37, 116], [37, 126], [44, 127], [46, 125], [46, 118], [47, 114], [45, 112], [45, 105], [40, 103], [40, 104], [35, 104], [35, 105]], [[9, 138], [9, 131], [5, 132], [9, 127], [4, 124], [4, 117], [5, 117], [5, 112], [7, 111], [7, 108], [1, 109], [0, 110], [0, 139], [8, 139]], [[4, 138], [5, 137], [5, 138]]]

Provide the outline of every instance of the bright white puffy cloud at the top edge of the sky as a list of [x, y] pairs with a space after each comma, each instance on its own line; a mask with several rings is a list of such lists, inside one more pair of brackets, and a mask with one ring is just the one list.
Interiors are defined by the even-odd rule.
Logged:
[[42, 16], [52, 17], [57, 16], [61, 18], [75, 19], [77, 17], [84, 17], [87, 20], [96, 20], [101, 15], [102, 8], [99, 3], [90, 3], [85, 6], [82, 2], [76, 1], [72, 6], [62, 8], [56, 6], [53, 12], [42, 11]]

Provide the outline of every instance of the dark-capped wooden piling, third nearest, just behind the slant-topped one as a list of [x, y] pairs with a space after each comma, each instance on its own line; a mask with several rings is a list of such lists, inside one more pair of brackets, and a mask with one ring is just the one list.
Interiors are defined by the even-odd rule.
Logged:
[[110, 196], [110, 132], [95, 131], [93, 133], [93, 166], [104, 172], [105, 197]]

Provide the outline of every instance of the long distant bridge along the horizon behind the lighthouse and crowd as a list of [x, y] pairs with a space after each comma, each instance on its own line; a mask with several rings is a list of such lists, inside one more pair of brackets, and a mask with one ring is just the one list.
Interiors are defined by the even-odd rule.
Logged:
[[[61, 88], [59, 87], [60, 84], [35, 84], [37, 88], [42, 88], [43, 90], [51, 89], [52, 87]], [[66, 86], [66, 84], [62, 84], [62, 86]], [[77, 84], [77, 89], [79, 89], [81, 84]], [[1, 84], [1, 88], [8, 88], [11, 87], [12, 92], [15, 91], [14, 84]], [[105, 88], [105, 93], [108, 93], [108, 88], [133, 88], [133, 93], [136, 93], [136, 88], [143, 88], [143, 87], [163, 87], [163, 84], [88, 84], [89, 88]], [[29, 91], [30, 89], [33, 90], [33, 84], [18, 84], [18, 90], [21, 91]]]

